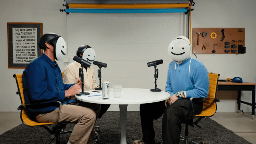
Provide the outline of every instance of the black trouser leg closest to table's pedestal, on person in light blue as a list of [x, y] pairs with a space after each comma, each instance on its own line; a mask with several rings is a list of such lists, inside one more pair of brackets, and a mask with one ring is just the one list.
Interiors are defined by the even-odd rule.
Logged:
[[140, 119], [142, 127], [142, 140], [146, 144], [155, 144], [155, 131], [153, 121], [157, 120], [164, 113], [164, 101], [148, 104], [140, 104]]

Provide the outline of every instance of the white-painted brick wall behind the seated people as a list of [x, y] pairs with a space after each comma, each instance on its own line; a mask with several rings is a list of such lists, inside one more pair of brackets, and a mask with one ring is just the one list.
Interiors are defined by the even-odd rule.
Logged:
[[[63, 0], [8, 0], [0, 5], [0, 111], [16, 111], [20, 104], [12, 75], [24, 69], [8, 69], [7, 22], [42, 22], [43, 33], [59, 34], [68, 43], [68, 57], [73, 62], [77, 48], [88, 44], [96, 52], [96, 60], [108, 64], [102, 68], [102, 80], [122, 84], [125, 88], [154, 88], [154, 68], [146, 63], [163, 59], [158, 65], [158, 88], [165, 90], [170, 58], [170, 41], [186, 32], [186, 16], [166, 14], [66, 14]], [[246, 54], [197, 54], [208, 72], [220, 73], [220, 79], [235, 76], [247, 82], [256, 82], [255, 0], [197, 0], [192, 12], [192, 28], [246, 28]], [[67, 24], [67, 29], [66, 29]], [[192, 55], [195, 58], [194, 55]], [[61, 70], [66, 64], [58, 61]], [[93, 65], [95, 72], [98, 67]], [[97, 73], [95, 73], [97, 76]], [[99, 84], [99, 80], [96, 80]], [[218, 92], [218, 111], [235, 112], [237, 93]], [[242, 92], [242, 99], [251, 102], [251, 92]], [[251, 111], [241, 104], [241, 109]], [[119, 110], [111, 106], [109, 110]], [[128, 110], [139, 110], [129, 105]]]

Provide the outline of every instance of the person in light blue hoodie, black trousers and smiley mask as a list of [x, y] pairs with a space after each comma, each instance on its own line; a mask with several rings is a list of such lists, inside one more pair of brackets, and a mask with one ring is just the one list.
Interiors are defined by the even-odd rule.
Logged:
[[[168, 54], [173, 60], [168, 67], [165, 90], [170, 93], [170, 98], [140, 105], [143, 138], [134, 141], [134, 144], [155, 144], [153, 121], [162, 114], [162, 144], [178, 144], [182, 122], [193, 115], [188, 98], [208, 96], [208, 71], [202, 62], [190, 57], [191, 45], [188, 38], [178, 36], [172, 40]], [[200, 114], [202, 106], [202, 103], [197, 104], [195, 114]]]

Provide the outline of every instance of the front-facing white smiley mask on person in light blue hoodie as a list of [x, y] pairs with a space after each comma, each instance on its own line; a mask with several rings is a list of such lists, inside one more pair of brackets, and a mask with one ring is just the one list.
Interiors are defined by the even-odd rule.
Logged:
[[190, 57], [191, 45], [185, 36], [174, 38], [168, 46], [168, 54], [175, 62], [183, 62]]

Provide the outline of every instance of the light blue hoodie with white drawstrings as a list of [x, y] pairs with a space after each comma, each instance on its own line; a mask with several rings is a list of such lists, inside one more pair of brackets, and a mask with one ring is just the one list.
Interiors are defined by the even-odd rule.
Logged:
[[166, 92], [171, 92], [171, 96], [176, 92], [184, 90], [187, 98], [203, 97], [206, 98], [209, 92], [209, 76], [204, 64], [197, 59], [188, 58], [184, 62], [175, 66], [177, 63], [172, 61], [169, 64]]

